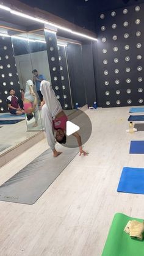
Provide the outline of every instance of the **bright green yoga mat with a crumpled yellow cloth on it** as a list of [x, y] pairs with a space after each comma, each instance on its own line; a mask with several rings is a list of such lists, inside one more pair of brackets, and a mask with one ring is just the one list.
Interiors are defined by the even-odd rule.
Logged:
[[101, 256], [144, 255], [144, 240], [137, 240], [137, 238], [132, 239], [123, 231], [128, 221], [131, 221], [132, 219], [140, 222], [143, 221], [142, 219], [131, 218], [122, 213], [115, 214]]

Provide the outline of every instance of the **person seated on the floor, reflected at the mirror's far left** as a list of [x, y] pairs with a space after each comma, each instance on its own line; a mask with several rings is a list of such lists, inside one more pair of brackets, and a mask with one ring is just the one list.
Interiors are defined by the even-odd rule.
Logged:
[[18, 97], [15, 96], [15, 90], [12, 88], [9, 90], [9, 97], [7, 97], [7, 104], [10, 114], [12, 115], [23, 115], [24, 110], [20, 107]]

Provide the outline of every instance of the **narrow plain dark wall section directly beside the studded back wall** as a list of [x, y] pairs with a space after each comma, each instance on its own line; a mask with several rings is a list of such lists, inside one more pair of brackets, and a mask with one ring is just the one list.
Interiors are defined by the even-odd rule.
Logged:
[[95, 72], [93, 65], [92, 42], [82, 44], [82, 64], [85, 79], [85, 92], [88, 106], [93, 106], [96, 101]]

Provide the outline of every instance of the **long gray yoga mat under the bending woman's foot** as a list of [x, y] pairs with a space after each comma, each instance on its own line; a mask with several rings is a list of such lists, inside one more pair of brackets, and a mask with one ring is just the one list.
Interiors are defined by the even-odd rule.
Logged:
[[59, 147], [57, 158], [50, 148], [0, 186], [0, 200], [32, 205], [68, 166], [79, 148]]

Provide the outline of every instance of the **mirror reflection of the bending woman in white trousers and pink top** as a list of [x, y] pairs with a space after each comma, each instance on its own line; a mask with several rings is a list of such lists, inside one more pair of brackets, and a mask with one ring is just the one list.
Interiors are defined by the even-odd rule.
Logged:
[[26, 89], [23, 98], [24, 112], [26, 114], [34, 113], [35, 124], [33, 127], [38, 126], [38, 106], [37, 106], [37, 97], [33, 90], [34, 84], [32, 80], [26, 82]]

